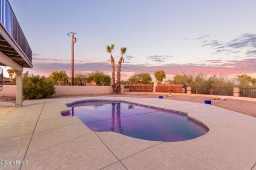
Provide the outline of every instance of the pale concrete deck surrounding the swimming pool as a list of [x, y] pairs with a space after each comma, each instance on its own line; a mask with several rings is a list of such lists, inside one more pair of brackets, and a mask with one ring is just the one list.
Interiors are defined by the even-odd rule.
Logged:
[[[124, 100], [179, 111], [205, 123], [205, 135], [181, 142], [155, 142], [114, 132], [93, 132], [78, 117], [63, 117], [66, 103]], [[248, 169], [256, 170], [256, 118], [188, 101], [83, 97], [26, 100], [0, 108], [0, 160], [28, 164], [0, 169]], [[1, 116], [2, 115], [2, 116]]]

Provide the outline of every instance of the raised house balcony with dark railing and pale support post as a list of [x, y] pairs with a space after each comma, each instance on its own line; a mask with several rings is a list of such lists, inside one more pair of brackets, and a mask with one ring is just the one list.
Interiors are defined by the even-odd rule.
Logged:
[[23, 68], [32, 68], [32, 51], [8, 0], [0, 1], [0, 65], [17, 70], [16, 106], [22, 106]]

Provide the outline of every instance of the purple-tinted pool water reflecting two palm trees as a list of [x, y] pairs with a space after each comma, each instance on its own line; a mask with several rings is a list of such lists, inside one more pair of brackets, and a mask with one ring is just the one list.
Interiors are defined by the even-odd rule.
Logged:
[[70, 113], [92, 131], [112, 131], [151, 141], [183, 141], [207, 133], [204, 126], [187, 116], [116, 101], [93, 101], [72, 105]]

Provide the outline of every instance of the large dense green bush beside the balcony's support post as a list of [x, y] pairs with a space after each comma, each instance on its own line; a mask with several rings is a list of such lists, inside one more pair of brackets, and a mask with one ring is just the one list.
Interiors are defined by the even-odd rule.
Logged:
[[23, 96], [26, 99], [46, 98], [54, 93], [54, 83], [51, 79], [33, 74], [23, 79]]

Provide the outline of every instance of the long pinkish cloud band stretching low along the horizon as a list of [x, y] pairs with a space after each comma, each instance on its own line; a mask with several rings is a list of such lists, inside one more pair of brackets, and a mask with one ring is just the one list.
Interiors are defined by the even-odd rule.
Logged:
[[[42, 62], [44, 61], [44, 62]], [[56, 62], [58, 61], [58, 62]], [[34, 58], [33, 69], [25, 69], [30, 73], [46, 75], [51, 74], [55, 70], [65, 70], [70, 73], [70, 61], [62, 60], [40, 60]], [[122, 72], [148, 72], [154, 73], [156, 70], [163, 69], [166, 74], [243, 74], [256, 73], [256, 58], [245, 60], [207, 60], [204, 63], [187, 63], [187, 64], [163, 64], [161, 66], [147, 66], [145, 64], [122, 64]], [[90, 72], [94, 70], [111, 72], [111, 64], [106, 62], [101, 63], [83, 63], [75, 62], [76, 72]]]

